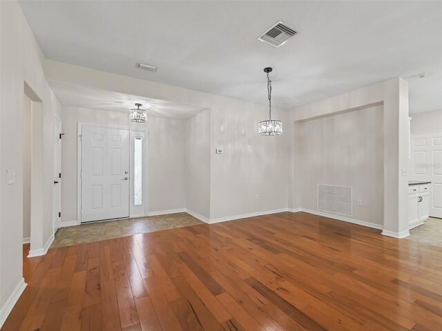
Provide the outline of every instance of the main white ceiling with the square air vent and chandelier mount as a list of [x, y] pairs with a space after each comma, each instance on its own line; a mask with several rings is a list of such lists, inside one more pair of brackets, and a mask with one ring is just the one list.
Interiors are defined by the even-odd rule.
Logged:
[[[442, 109], [442, 1], [21, 1], [48, 59], [294, 108], [392, 77]], [[257, 37], [282, 20], [280, 48]], [[157, 72], [135, 68], [137, 62]], [[427, 72], [425, 79], [416, 77]]]

